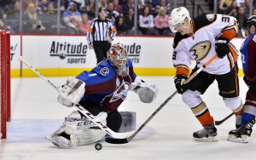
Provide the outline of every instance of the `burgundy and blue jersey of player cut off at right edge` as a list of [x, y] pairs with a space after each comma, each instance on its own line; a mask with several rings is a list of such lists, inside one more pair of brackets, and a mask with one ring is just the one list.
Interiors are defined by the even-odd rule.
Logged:
[[242, 70], [248, 84], [256, 81], [256, 33], [247, 37], [241, 45]]

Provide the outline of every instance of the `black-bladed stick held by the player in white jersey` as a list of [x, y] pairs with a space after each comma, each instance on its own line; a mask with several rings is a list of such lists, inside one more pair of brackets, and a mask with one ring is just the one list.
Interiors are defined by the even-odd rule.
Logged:
[[[200, 73], [205, 67], [207, 67], [213, 60], [215, 60], [218, 57], [217, 54], [213, 55], [212, 58], [210, 60], [207, 61], [207, 63], [205, 63], [203, 66], [201, 66], [197, 71], [195, 71], [186, 81], [186, 83], [189, 83], [196, 75], [198, 75], [198, 73]], [[169, 100], [172, 100], [172, 97], [177, 94], [177, 90], [166, 99], [166, 101], [164, 101], [164, 103], [162, 103], [154, 112], [153, 114], [148, 117], [148, 119], [141, 125], [141, 127], [139, 127], [134, 134], [132, 134], [130, 137], [125, 138], [125, 139], [113, 139], [111, 137], [106, 137], [105, 141], [108, 143], [112, 143], [112, 144], [125, 144], [125, 143], [129, 143], [136, 135], [137, 133], [139, 133], [144, 127], [145, 125], [164, 107], [166, 106], [166, 103]]]

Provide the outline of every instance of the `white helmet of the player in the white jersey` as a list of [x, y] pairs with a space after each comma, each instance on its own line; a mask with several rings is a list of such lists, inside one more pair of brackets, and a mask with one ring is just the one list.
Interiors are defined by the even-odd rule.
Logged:
[[177, 32], [175, 30], [174, 26], [177, 26], [177, 25], [183, 26], [184, 20], [186, 18], [191, 20], [188, 9], [186, 9], [184, 7], [179, 7], [179, 8], [173, 9], [172, 13], [170, 14], [170, 17], [169, 17], [169, 27], [170, 27], [171, 31]]

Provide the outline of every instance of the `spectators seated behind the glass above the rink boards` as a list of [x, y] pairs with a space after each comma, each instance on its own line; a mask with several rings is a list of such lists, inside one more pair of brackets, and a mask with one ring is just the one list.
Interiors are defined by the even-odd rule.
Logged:
[[[168, 26], [171, 0], [137, 0], [136, 31], [135, 0], [98, 0], [97, 6], [95, 0], [60, 1], [22, 0], [20, 4], [20, 0], [0, 0], [0, 29], [33, 34], [55, 34], [59, 30], [61, 34], [85, 35], [90, 20], [96, 17], [96, 8], [104, 6], [118, 35], [173, 35]], [[212, 9], [213, 0], [207, 1]], [[250, 14], [256, 15], [256, 0], [218, 0], [218, 14], [235, 16], [241, 24]]]

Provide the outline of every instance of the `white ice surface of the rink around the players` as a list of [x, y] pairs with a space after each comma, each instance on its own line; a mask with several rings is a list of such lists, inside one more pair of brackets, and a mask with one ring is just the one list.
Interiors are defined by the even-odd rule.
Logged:
[[[143, 77], [159, 88], [157, 98], [151, 104], [143, 104], [137, 94], [129, 93], [119, 111], [136, 111], [137, 127], [175, 91], [173, 77]], [[49, 77], [57, 86], [66, 82], [66, 77]], [[247, 86], [240, 78], [241, 98], [245, 99]], [[253, 159], [256, 151], [256, 134], [249, 143], [227, 141], [228, 133], [235, 129], [235, 117], [217, 126], [218, 142], [198, 142], [192, 139], [194, 131], [201, 129], [192, 111], [176, 94], [137, 135], [124, 145], [112, 145], [101, 141], [102, 150], [94, 144], [74, 149], [60, 149], [44, 137], [53, 132], [73, 108], [61, 106], [55, 89], [39, 77], [13, 78], [12, 121], [8, 123], [8, 138], [0, 140], [0, 160], [179, 160], [179, 159]], [[215, 120], [230, 114], [218, 95], [217, 83], [213, 83], [202, 95]]]

